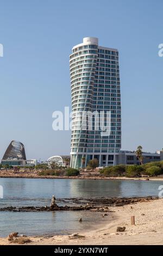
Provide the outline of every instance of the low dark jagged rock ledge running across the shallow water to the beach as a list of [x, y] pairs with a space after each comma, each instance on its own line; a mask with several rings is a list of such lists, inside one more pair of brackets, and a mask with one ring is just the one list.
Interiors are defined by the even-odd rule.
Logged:
[[159, 199], [158, 197], [133, 197], [133, 198], [73, 198], [72, 202], [84, 204], [80, 206], [22, 206], [13, 207], [8, 206], [0, 208], [0, 211], [12, 211], [12, 212], [38, 212], [38, 211], [98, 211], [98, 212], [112, 212], [108, 207], [111, 206], [123, 206], [127, 204], [135, 204], [138, 202], [148, 202], [149, 200]]

